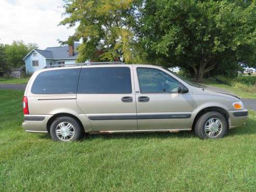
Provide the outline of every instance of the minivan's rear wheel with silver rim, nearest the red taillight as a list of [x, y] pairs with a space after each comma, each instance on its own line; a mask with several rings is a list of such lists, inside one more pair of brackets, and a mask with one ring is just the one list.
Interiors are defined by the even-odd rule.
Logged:
[[83, 135], [82, 128], [72, 117], [58, 117], [50, 126], [50, 135], [54, 141], [76, 141]]

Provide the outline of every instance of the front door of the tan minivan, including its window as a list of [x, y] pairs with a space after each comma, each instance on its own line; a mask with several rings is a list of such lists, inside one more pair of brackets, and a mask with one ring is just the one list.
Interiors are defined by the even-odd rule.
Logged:
[[192, 95], [179, 93], [181, 84], [159, 68], [137, 67], [138, 130], [190, 129]]

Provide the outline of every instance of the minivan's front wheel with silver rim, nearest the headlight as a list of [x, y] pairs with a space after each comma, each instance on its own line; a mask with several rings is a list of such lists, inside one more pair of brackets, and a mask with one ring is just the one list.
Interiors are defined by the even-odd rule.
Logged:
[[227, 133], [227, 121], [219, 112], [208, 112], [196, 122], [195, 133], [200, 139], [223, 138]]

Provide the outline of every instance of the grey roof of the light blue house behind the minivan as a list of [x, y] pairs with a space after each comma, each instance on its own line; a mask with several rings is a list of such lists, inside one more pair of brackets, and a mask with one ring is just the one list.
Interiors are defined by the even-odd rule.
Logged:
[[75, 54], [74, 56], [69, 56], [69, 46], [59, 46], [59, 47], [47, 47], [45, 50], [41, 49], [33, 49], [31, 50], [24, 58], [23, 60], [28, 57], [32, 51], [36, 51], [39, 54], [42, 54], [43, 57], [46, 59], [76, 59], [78, 52], [76, 48], [79, 46], [79, 43], [74, 44]]

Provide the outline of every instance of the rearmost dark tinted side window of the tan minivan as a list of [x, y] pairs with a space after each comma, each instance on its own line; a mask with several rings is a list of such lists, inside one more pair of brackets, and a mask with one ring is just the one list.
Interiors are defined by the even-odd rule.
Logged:
[[39, 73], [32, 85], [34, 94], [76, 94], [80, 68]]

